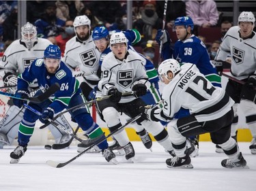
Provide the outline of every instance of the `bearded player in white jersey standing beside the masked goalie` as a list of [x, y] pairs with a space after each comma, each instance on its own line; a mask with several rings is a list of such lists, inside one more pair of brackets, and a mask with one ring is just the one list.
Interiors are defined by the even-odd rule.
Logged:
[[99, 69], [100, 52], [96, 49], [91, 38], [91, 20], [87, 16], [76, 16], [74, 18], [74, 31], [76, 36], [72, 37], [66, 43], [66, 49], [63, 62], [74, 71], [79, 68], [84, 73], [92, 73], [84, 77], [85, 83], [83, 94], [88, 100], [89, 92], [96, 86], [100, 80]]

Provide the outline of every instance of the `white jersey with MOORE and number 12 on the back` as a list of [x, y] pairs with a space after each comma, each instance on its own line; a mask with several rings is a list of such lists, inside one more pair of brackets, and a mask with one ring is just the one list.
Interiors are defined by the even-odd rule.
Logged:
[[212, 86], [196, 65], [185, 63], [180, 73], [162, 90], [164, 107], [156, 109], [154, 115], [169, 121], [181, 107], [195, 114], [199, 122], [214, 120], [226, 114], [234, 101], [223, 88]]

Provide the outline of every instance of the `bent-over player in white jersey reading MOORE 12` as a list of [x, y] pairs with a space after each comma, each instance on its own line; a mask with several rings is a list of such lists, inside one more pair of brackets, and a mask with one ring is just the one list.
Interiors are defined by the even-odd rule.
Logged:
[[167, 59], [158, 67], [166, 86], [162, 90], [164, 107], [142, 107], [142, 117], [150, 121], [173, 120], [180, 108], [189, 109], [190, 116], [180, 118], [167, 126], [176, 156], [167, 159], [169, 168], [193, 168], [188, 156], [186, 137], [210, 133], [213, 143], [221, 145], [229, 159], [221, 162], [226, 168], [246, 167], [238, 143], [231, 138], [234, 101], [223, 88], [212, 86], [196, 65]]

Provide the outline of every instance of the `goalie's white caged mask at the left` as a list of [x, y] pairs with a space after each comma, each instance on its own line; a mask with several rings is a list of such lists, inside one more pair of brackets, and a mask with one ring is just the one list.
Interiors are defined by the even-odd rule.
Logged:
[[28, 49], [33, 47], [34, 42], [37, 40], [37, 35], [38, 32], [33, 24], [27, 22], [21, 27], [21, 39], [25, 42]]

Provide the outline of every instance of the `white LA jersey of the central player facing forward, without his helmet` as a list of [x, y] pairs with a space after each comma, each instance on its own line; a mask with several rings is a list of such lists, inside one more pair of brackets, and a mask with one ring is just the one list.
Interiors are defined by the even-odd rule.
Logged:
[[[107, 95], [109, 88], [117, 88], [119, 92], [130, 92], [134, 83], [142, 83], [150, 87], [148, 77], [145, 71], [145, 58], [137, 52], [128, 50], [124, 60], [115, 58], [113, 52], [109, 52], [104, 57], [101, 70], [102, 76], [98, 83], [96, 97]], [[119, 103], [127, 103], [136, 99], [134, 96], [122, 97]]]

